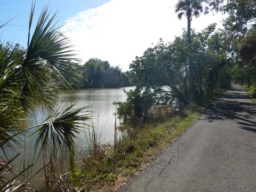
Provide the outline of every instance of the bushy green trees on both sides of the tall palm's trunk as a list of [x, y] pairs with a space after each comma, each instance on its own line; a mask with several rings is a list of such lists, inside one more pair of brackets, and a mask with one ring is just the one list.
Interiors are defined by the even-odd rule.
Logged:
[[157, 105], [178, 107], [191, 103], [189, 59], [193, 66], [194, 102], [202, 104], [215, 90], [229, 88], [232, 61], [221, 43], [221, 31], [215, 30], [213, 24], [201, 33], [192, 31], [191, 38], [191, 52], [183, 33], [171, 43], [161, 39], [131, 63], [131, 77], [137, 88], [126, 93], [126, 102], [119, 105], [118, 114], [124, 122], [149, 115], [149, 109]]

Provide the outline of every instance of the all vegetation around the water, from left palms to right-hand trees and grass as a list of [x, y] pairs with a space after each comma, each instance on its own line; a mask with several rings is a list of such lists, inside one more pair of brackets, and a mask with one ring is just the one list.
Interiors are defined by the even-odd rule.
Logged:
[[[0, 42], [0, 191], [115, 191], [191, 126], [231, 82], [246, 85], [255, 97], [255, 1], [204, 2], [205, 7], [200, 0], [179, 0], [173, 11], [177, 19], [187, 19], [187, 30], [172, 42], [159, 39], [125, 73], [100, 59], [80, 66], [70, 41], [55, 26], [56, 14], [45, 6], [34, 22], [33, 3], [27, 48]], [[223, 29], [212, 23], [196, 33], [192, 18], [209, 11], [228, 15]], [[127, 99], [113, 103], [113, 146], [100, 144], [90, 106], [63, 103], [54, 109], [63, 89], [129, 85], [135, 89], [125, 91]], [[53, 112], [27, 127], [23, 117], [35, 106]], [[87, 131], [87, 149], [77, 152], [81, 130]], [[11, 149], [23, 154], [9, 157]], [[37, 159], [42, 168], [33, 170]], [[14, 161], [21, 162], [20, 170]], [[33, 186], [34, 180], [41, 185]]]

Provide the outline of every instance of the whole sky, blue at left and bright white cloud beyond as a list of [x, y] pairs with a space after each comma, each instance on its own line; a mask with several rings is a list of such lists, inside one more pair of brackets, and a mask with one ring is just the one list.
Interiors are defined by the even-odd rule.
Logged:
[[[44, 5], [58, 11], [58, 25], [69, 37], [82, 63], [90, 58], [109, 61], [124, 71], [136, 56], [163, 38], [171, 42], [182, 34], [187, 20], [175, 13], [178, 0], [37, 0], [35, 18]], [[20, 43], [26, 48], [28, 18], [32, 0], [0, 0], [0, 21], [10, 19], [0, 29], [2, 41]], [[191, 27], [201, 31], [211, 23], [221, 27], [221, 13], [193, 18]]]

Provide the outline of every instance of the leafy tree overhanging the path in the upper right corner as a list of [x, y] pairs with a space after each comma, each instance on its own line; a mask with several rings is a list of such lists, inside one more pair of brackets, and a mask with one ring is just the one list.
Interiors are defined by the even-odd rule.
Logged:
[[212, 10], [226, 13], [223, 21], [226, 52], [235, 65], [234, 81], [256, 86], [256, 1], [255, 0], [205, 0]]

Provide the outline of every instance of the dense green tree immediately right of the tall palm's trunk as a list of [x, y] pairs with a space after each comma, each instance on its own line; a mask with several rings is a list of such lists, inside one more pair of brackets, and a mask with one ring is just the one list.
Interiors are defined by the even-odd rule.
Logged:
[[215, 31], [216, 23], [193, 35], [192, 56], [195, 69], [197, 102], [219, 88], [230, 86], [230, 59], [227, 56], [222, 31]]

